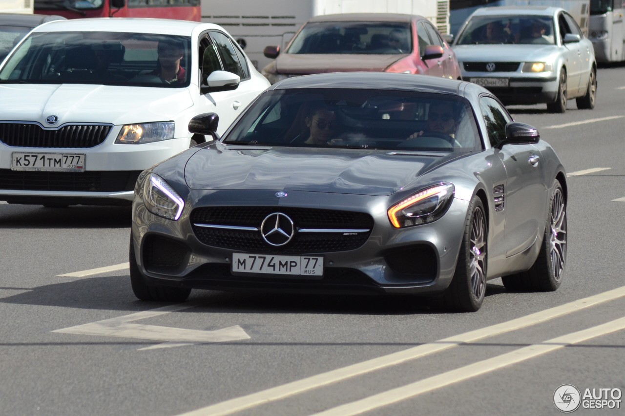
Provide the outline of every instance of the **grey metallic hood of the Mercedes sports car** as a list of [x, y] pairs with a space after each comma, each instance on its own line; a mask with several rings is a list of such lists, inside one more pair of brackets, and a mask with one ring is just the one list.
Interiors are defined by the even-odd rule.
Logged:
[[249, 147], [217, 143], [195, 152], [184, 179], [197, 190], [271, 189], [386, 196], [459, 154]]

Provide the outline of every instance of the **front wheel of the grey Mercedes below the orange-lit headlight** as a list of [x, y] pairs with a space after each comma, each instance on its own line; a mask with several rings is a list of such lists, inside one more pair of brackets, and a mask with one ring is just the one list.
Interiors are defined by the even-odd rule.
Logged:
[[486, 294], [487, 226], [486, 212], [479, 197], [469, 204], [456, 271], [443, 295], [448, 309], [476, 312]]

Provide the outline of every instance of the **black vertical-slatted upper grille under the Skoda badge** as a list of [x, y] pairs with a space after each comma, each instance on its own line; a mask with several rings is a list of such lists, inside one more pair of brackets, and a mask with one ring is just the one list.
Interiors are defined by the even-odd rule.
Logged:
[[68, 124], [44, 129], [39, 124], [0, 122], [0, 141], [14, 147], [88, 148], [104, 142], [111, 125]]

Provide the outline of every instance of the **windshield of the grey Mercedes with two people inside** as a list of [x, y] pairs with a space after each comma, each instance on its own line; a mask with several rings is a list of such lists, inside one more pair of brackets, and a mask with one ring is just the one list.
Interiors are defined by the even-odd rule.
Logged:
[[456, 96], [363, 89], [268, 91], [226, 144], [393, 151], [481, 149], [469, 103]]

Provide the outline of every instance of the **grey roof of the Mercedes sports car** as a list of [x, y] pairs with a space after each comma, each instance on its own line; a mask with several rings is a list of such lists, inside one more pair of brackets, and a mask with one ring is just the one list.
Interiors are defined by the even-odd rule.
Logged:
[[269, 89], [382, 89], [459, 95], [459, 91], [466, 84], [469, 83], [442, 77], [394, 72], [331, 72], [287, 78], [277, 82]]

